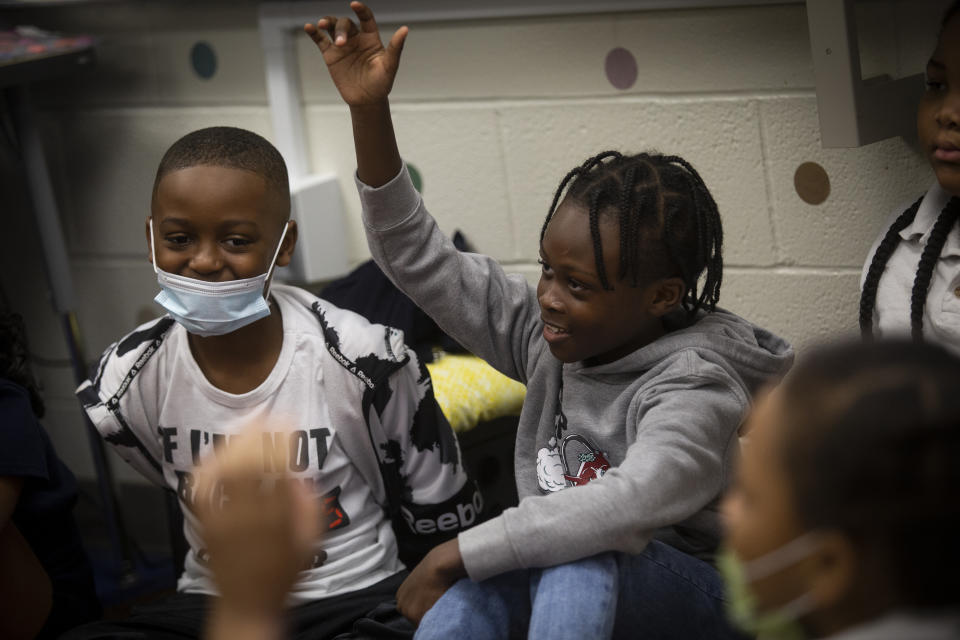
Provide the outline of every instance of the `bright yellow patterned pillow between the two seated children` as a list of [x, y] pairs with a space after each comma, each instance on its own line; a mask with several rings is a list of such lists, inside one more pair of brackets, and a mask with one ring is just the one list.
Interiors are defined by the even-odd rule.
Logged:
[[456, 432], [520, 414], [527, 388], [476, 356], [444, 354], [427, 369], [437, 404]]

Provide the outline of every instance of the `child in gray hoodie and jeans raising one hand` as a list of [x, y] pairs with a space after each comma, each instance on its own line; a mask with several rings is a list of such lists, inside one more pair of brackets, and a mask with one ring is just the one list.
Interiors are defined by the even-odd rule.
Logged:
[[407, 28], [384, 48], [372, 12], [351, 8], [358, 24], [305, 30], [350, 107], [373, 257], [445, 332], [527, 386], [519, 506], [434, 548], [400, 587], [400, 611], [421, 638], [739, 637], [711, 565], [719, 497], [753, 391], [793, 352], [716, 308], [722, 227], [700, 175], [657, 153], [575, 167], [544, 222], [534, 289], [438, 230], [388, 104]]

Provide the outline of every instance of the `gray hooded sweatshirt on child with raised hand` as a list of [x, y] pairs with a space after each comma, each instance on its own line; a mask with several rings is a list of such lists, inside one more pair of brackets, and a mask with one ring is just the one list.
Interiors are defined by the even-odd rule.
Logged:
[[[738, 428], [757, 387], [791, 365], [790, 346], [732, 313], [692, 323], [677, 313], [666, 335], [617, 361], [564, 364], [542, 337], [533, 287], [492, 258], [457, 251], [405, 167], [382, 187], [357, 186], [384, 273], [464, 347], [527, 386], [514, 454], [520, 504], [460, 533], [469, 576], [639, 553], [653, 538], [709, 557]], [[604, 460], [601, 477], [567, 487], [563, 473], [589, 477]]]

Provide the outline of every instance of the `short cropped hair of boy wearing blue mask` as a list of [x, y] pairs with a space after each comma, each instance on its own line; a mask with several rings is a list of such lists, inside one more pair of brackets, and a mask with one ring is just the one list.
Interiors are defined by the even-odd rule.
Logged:
[[238, 127], [198, 129], [174, 142], [160, 160], [153, 193], [163, 178], [178, 169], [214, 166], [243, 169], [261, 176], [290, 212], [290, 181], [283, 156], [270, 142], [252, 131]]

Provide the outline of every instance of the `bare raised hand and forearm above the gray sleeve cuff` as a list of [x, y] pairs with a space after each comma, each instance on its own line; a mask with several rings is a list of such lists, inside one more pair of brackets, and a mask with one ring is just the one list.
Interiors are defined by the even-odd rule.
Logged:
[[357, 175], [379, 187], [402, 166], [387, 96], [408, 30], [397, 29], [384, 48], [373, 12], [362, 2], [351, 2], [350, 8], [357, 14], [359, 27], [349, 18], [327, 16], [316, 25], [304, 25], [304, 31], [317, 43], [337, 90], [350, 106]]

